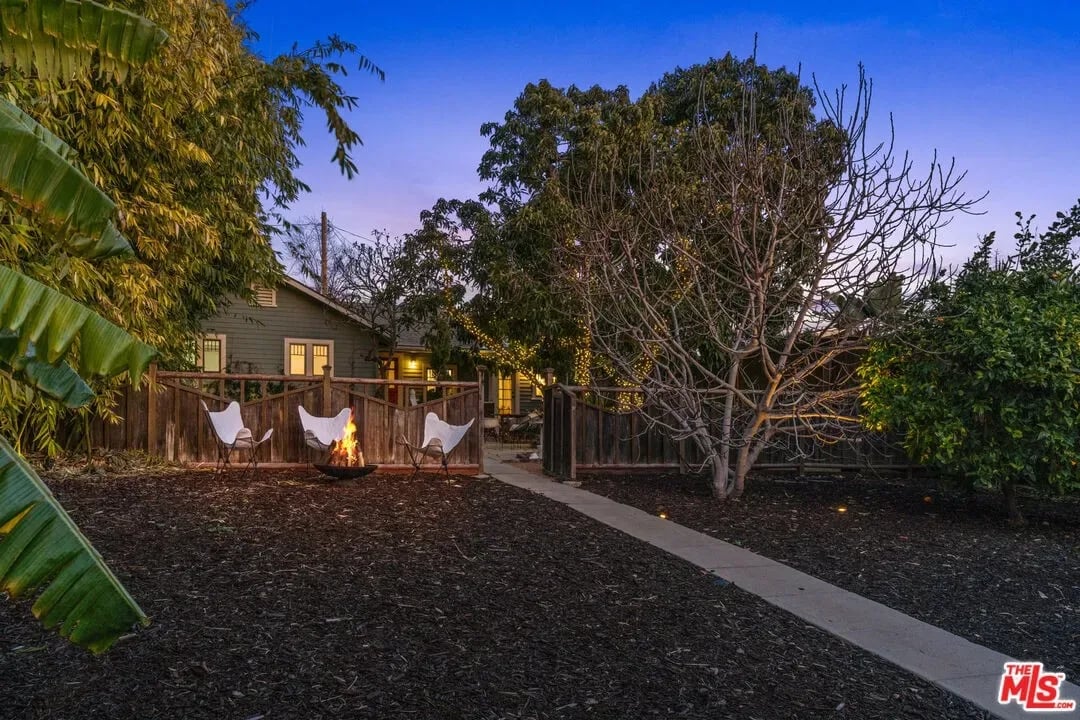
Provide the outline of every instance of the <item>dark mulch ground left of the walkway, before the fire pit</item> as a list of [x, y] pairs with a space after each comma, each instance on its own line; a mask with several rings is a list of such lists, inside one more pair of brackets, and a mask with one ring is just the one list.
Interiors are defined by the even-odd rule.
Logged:
[[66, 478], [153, 624], [104, 656], [0, 602], [3, 718], [982, 718], [495, 480]]

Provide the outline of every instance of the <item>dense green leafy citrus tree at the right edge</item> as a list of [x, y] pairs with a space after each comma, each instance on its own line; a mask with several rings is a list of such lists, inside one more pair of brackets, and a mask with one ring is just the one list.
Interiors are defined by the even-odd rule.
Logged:
[[860, 368], [865, 422], [963, 486], [1002, 491], [1013, 521], [1018, 485], [1080, 490], [1080, 204], [1039, 235], [1017, 217], [1015, 254], [985, 237]]

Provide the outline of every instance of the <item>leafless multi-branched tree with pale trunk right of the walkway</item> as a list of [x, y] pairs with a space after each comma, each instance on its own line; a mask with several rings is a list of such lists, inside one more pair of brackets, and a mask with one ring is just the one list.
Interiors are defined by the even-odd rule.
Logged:
[[882, 309], [933, 274], [936, 231], [975, 202], [953, 162], [918, 171], [899, 153], [891, 123], [869, 139], [870, 95], [860, 68], [852, 94], [816, 89], [818, 118], [793, 94], [762, 127], [751, 83], [734, 118], [645, 141], [605, 128], [618, 150], [597, 144], [573, 168], [579, 234], [559, 283], [719, 498], [742, 493], [778, 433], [855, 426], [854, 358], [899, 315]]

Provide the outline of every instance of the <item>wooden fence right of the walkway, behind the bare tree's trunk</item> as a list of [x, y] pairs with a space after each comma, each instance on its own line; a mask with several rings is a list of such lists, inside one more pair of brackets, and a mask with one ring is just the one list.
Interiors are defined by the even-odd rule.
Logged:
[[[603, 404], [591, 397], [600, 395]], [[550, 385], [544, 389], [541, 462], [544, 473], [577, 477], [579, 471], [674, 470], [701, 466], [704, 457], [693, 443], [671, 439], [638, 409], [633, 388]], [[767, 447], [756, 471], [876, 472], [919, 470], [899, 443], [860, 433], [836, 443], [785, 434]]]

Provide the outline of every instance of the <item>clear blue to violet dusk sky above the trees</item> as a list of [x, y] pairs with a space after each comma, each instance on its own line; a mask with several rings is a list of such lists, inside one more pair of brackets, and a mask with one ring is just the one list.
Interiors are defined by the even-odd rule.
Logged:
[[483, 189], [480, 126], [498, 121], [526, 83], [627, 85], [636, 96], [676, 66], [751, 54], [801, 66], [823, 87], [874, 81], [872, 114], [892, 113], [897, 145], [917, 162], [936, 150], [968, 171], [978, 217], [942, 233], [962, 260], [977, 236], [1011, 237], [1013, 213], [1045, 227], [1080, 198], [1080, 9], [1026, 3], [462, 2], [258, 0], [244, 17], [259, 52], [336, 32], [387, 72], [353, 71], [350, 116], [364, 138], [346, 180], [321, 118], [309, 113], [301, 177], [313, 192], [295, 219], [325, 209], [353, 232], [404, 233], [438, 198]]

